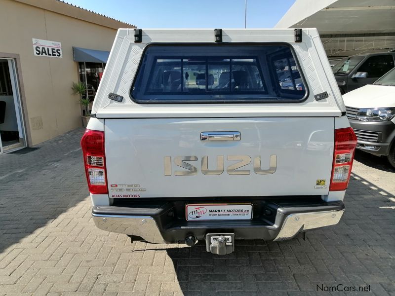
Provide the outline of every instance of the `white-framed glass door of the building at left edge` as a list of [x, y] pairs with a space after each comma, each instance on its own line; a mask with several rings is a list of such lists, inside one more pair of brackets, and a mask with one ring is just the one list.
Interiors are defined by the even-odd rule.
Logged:
[[0, 58], [0, 153], [26, 146], [15, 61]]

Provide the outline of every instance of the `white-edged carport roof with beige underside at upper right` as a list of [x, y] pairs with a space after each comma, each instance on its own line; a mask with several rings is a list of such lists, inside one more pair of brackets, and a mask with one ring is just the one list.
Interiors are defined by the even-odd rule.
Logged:
[[296, 0], [275, 28], [317, 28], [328, 58], [395, 50], [394, 0]]

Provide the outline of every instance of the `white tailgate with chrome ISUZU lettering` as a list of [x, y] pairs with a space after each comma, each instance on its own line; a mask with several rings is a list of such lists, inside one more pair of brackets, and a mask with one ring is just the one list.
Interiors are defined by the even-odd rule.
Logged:
[[[240, 140], [202, 141], [202, 132], [239, 132]], [[333, 142], [333, 117], [105, 119], [109, 193], [328, 194]]]

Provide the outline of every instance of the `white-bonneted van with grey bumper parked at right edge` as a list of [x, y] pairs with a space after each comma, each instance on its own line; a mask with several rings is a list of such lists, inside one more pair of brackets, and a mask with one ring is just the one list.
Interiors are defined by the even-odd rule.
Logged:
[[395, 68], [343, 99], [358, 139], [356, 148], [386, 155], [395, 167]]

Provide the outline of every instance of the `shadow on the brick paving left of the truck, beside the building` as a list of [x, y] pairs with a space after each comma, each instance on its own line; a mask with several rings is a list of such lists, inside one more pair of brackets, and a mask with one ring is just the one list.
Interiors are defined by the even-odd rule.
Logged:
[[26, 236], [27, 243], [39, 242], [42, 226], [89, 194], [79, 148], [83, 131], [68, 132], [29, 153], [0, 155], [0, 252]]

